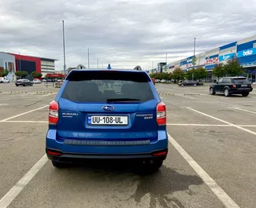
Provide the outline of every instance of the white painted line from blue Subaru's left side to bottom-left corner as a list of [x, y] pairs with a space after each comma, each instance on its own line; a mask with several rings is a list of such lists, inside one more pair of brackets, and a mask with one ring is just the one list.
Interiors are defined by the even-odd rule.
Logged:
[[19, 193], [29, 183], [29, 181], [31, 181], [32, 178], [35, 177], [35, 174], [38, 173], [39, 170], [41, 170], [41, 168], [44, 166], [44, 164], [46, 164], [47, 161], [47, 156], [43, 155], [39, 162], [36, 162], [35, 166], [33, 166], [32, 169], [29, 170], [28, 173], [26, 173], [24, 177], [22, 177], [20, 181], [18, 181], [17, 184], [15, 184], [13, 188], [11, 188], [9, 192], [6, 193], [6, 195], [4, 195], [4, 197], [2, 197], [2, 199], [0, 200], [0, 208], [6, 208], [7, 206], [9, 206], [9, 204], [13, 202], [17, 195], [19, 195]]

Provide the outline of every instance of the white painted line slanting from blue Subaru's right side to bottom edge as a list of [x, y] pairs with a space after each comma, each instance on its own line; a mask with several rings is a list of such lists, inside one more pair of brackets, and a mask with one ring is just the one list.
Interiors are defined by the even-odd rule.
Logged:
[[211, 178], [210, 175], [206, 173], [206, 171], [203, 170], [197, 162], [195, 162], [191, 155], [188, 155], [187, 151], [185, 151], [184, 148], [182, 148], [180, 144], [178, 144], [176, 140], [174, 140], [169, 134], [168, 139], [169, 142], [173, 144], [173, 147], [176, 148], [187, 163], [195, 170], [196, 173], [198, 173], [198, 176], [202, 178], [202, 181], [208, 185], [208, 187], [213, 191], [217, 198], [221, 200], [221, 203], [223, 203], [226, 208], [239, 208], [239, 206], [228, 196], [226, 192], [224, 192], [224, 190], [213, 180], [213, 178]]

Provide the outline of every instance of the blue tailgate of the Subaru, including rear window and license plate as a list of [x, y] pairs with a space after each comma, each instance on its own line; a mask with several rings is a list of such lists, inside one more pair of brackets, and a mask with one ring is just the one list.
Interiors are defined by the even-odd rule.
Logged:
[[158, 101], [144, 71], [74, 71], [67, 81], [58, 100], [59, 139], [157, 140]]

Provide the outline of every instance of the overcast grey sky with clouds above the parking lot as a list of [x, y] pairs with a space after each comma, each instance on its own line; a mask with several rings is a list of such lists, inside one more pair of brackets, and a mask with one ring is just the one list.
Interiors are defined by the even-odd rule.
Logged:
[[0, 51], [67, 68], [154, 67], [256, 35], [256, 0], [0, 0]]

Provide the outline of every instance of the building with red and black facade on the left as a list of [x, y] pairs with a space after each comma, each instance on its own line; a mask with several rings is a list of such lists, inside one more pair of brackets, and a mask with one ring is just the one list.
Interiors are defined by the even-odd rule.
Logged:
[[37, 71], [44, 77], [46, 74], [54, 73], [55, 59], [0, 52], [0, 70], [3, 69], [9, 71], [9, 81], [15, 79], [15, 71], [27, 71], [28, 75], [31, 75], [32, 71]]

